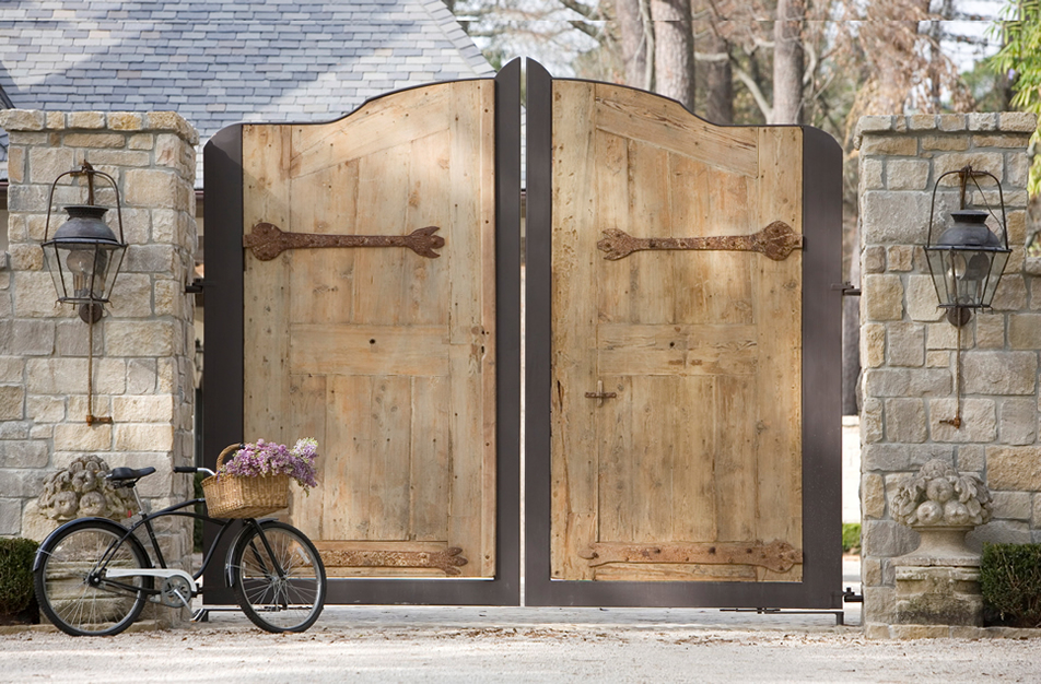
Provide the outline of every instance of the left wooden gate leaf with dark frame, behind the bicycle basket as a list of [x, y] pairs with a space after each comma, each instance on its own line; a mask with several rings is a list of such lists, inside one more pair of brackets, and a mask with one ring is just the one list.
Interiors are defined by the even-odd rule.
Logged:
[[496, 153], [519, 150], [518, 83], [514, 63], [207, 150], [206, 451], [318, 439], [288, 519], [332, 601], [518, 600], [519, 156]]

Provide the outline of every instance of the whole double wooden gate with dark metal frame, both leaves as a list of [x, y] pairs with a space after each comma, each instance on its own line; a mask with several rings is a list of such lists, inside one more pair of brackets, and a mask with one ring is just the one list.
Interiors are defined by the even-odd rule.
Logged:
[[[519, 601], [519, 111], [207, 148], [206, 453], [319, 439], [334, 602]], [[838, 145], [528, 61], [527, 155], [526, 602], [840, 606]]]

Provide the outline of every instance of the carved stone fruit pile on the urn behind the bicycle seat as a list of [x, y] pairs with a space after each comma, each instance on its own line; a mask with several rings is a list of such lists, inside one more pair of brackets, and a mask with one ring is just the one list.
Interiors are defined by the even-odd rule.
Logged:
[[134, 503], [128, 490], [116, 490], [105, 480], [108, 463], [96, 456], [81, 456], [44, 483], [39, 511], [51, 520], [87, 516], [126, 518]]

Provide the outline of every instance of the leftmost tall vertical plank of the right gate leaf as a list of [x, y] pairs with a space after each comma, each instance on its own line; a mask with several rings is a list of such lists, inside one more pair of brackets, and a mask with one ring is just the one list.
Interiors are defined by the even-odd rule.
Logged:
[[595, 89], [553, 83], [553, 397], [551, 573], [592, 579], [580, 556], [596, 539]]

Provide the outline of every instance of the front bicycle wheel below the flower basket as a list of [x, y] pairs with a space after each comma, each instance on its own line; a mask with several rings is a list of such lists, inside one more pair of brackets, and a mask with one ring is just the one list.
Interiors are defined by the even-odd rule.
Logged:
[[325, 608], [325, 566], [296, 528], [274, 520], [258, 524], [267, 545], [255, 528], [247, 528], [231, 556], [235, 597], [261, 629], [303, 632]]

